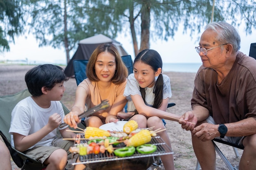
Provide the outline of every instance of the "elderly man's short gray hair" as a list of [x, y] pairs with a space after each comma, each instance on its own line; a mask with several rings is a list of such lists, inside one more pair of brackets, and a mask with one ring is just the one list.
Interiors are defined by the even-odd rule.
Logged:
[[227, 22], [211, 22], [205, 26], [205, 30], [207, 29], [211, 29], [218, 33], [216, 38], [220, 44], [232, 44], [233, 53], [236, 53], [240, 49], [240, 35], [231, 24], [228, 24]]

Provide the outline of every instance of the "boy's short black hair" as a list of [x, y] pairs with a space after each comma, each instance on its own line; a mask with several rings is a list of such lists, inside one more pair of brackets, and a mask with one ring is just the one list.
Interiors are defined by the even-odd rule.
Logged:
[[43, 64], [30, 69], [25, 75], [29, 93], [35, 97], [43, 95], [42, 87], [51, 90], [56, 83], [67, 81], [64, 69], [52, 64]]

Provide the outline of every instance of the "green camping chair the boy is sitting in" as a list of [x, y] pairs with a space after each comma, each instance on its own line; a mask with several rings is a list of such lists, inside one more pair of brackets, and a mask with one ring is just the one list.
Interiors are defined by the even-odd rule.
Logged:
[[[11, 126], [11, 112], [20, 100], [31, 96], [28, 89], [20, 91], [13, 95], [0, 96], [0, 135], [10, 151], [11, 158], [14, 163], [21, 168], [21, 170], [44, 170], [46, 166], [42, 163], [31, 159], [24, 153], [16, 150], [11, 146], [11, 135], [9, 134], [9, 129]], [[69, 110], [62, 104], [64, 113], [69, 113]], [[79, 125], [81, 126], [81, 125]]]

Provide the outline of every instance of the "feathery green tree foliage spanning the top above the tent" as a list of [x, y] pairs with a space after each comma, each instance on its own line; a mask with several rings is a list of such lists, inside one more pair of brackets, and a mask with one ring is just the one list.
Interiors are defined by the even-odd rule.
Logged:
[[[174, 38], [178, 29], [200, 33], [211, 22], [213, 0], [0, 0], [13, 6], [13, 15], [22, 16], [19, 8], [30, 17], [26, 20], [39, 42], [39, 46], [65, 47], [67, 62], [70, 50], [79, 40], [95, 34], [115, 38], [118, 33], [131, 35], [135, 55], [150, 48], [150, 40]], [[213, 21], [227, 21], [234, 26], [245, 25], [252, 33], [256, 28], [255, 0], [215, 0]], [[22, 24], [12, 20], [9, 13], [0, 12], [0, 21], [9, 18], [8, 33], [11, 37], [19, 33]], [[13, 22], [15, 21], [15, 22]], [[18, 24], [17, 24], [18, 23]], [[0, 25], [1, 26], [1, 25]], [[12, 28], [12, 29], [9, 29]], [[6, 41], [6, 29], [0, 27], [0, 43]], [[138, 40], [140, 46], [138, 45]], [[1, 46], [1, 44], [0, 44]]]

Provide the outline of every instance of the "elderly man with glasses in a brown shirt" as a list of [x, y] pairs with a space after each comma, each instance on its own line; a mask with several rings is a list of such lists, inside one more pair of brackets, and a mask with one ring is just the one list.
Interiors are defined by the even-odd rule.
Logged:
[[182, 115], [187, 123], [180, 124], [191, 130], [202, 170], [216, 169], [211, 142], [216, 137], [245, 147], [240, 170], [256, 167], [256, 60], [239, 49], [240, 35], [225, 22], [208, 24], [195, 47], [202, 66], [195, 76], [192, 111]]

